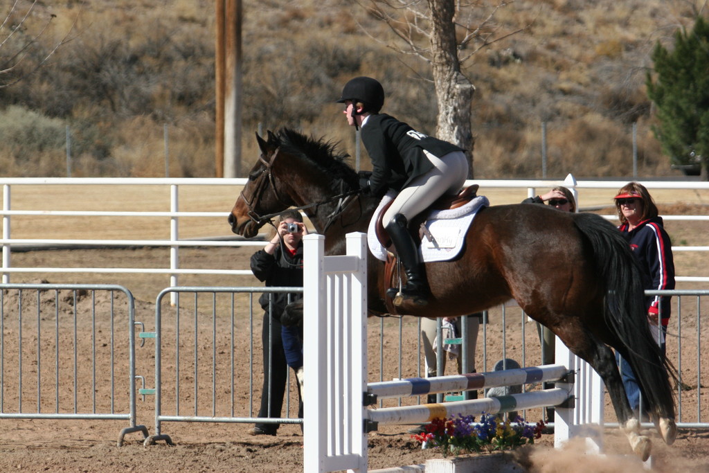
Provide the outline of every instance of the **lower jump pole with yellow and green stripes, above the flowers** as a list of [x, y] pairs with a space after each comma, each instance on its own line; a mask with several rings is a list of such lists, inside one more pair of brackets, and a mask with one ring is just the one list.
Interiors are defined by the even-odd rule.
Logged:
[[481, 416], [482, 413], [496, 414], [535, 407], [559, 406], [559, 404], [564, 404], [567, 399], [569, 399], [569, 393], [565, 389], [554, 388], [469, 401], [378, 408], [371, 409], [367, 413], [371, 424], [399, 425], [425, 423], [435, 418], [449, 418], [459, 414]]

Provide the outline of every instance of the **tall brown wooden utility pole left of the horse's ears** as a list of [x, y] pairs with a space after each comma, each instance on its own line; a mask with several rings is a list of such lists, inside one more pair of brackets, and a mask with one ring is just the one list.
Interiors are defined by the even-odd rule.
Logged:
[[238, 177], [241, 164], [241, 0], [216, 0], [216, 175]]

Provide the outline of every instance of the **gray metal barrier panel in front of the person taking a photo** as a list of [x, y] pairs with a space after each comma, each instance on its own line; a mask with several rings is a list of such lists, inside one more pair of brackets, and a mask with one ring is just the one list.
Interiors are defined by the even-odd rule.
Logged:
[[[254, 331], [254, 295], [282, 292], [302, 294], [303, 289], [184, 286], [160, 292], [155, 306], [155, 390], [151, 393], [155, 394], [155, 435], [150, 435], [145, 445], [158, 440], [172, 444], [169, 435], [162, 433], [164, 422], [303, 423], [293, 412], [298, 399], [293, 395], [295, 382], [290, 371], [286, 416], [255, 417], [254, 388], [260, 386], [263, 372], [261, 363], [254, 360], [254, 354], [262, 350], [254, 343], [259, 340]], [[167, 304], [165, 297], [172, 294], [177, 294], [174, 306]], [[256, 313], [263, 313], [260, 306]], [[250, 333], [247, 350], [237, 346], [238, 330]], [[167, 343], [168, 336], [172, 343]], [[247, 374], [237, 372], [235, 356], [249, 358]], [[209, 400], [206, 404], [200, 403], [203, 396]], [[293, 397], [295, 409], [291, 408]]]

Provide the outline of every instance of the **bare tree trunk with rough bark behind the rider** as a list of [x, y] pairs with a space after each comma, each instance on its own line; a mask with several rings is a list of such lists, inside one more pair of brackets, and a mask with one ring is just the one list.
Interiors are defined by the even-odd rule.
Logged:
[[431, 12], [432, 72], [438, 99], [436, 134], [442, 140], [467, 150], [468, 178], [472, 179], [474, 139], [471, 129], [471, 101], [475, 87], [460, 71], [455, 37], [454, 0], [428, 0]]

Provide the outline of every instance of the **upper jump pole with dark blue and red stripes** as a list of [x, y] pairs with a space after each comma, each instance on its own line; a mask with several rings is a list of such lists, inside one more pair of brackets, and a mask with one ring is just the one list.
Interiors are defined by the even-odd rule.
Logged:
[[454, 374], [432, 378], [407, 378], [369, 383], [367, 394], [369, 404], [377, 399], [387, 399], [403, 396], [425, 396], [448, 391], [469, 391], [472, 389], [488, 389], [514, 384], [532, 384], [545, 381], [566, 379], [569, 369], [564, 365], [544, 365], [491, 371], [486, 373]]

